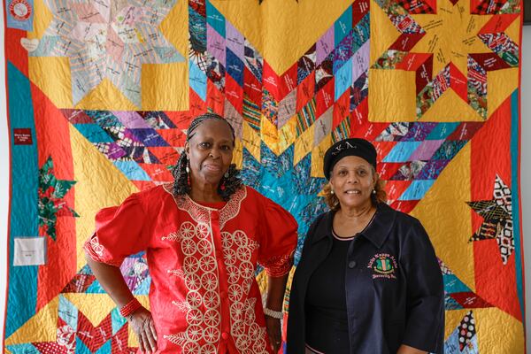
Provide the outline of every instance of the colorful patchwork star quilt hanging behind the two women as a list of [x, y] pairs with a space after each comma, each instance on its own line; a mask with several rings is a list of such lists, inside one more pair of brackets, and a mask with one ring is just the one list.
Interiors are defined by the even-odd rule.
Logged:
[[[324, 151], [373, 142], [389, 204], [435, 246], [445, 352], [525, 351], [519, 0], [4, 0], [4, 13], [5, 353], [135, 352], [81, 245], [100, 208], [172, 181], [207, 111], [235, 127], [245, 183], [296, 217], [296, 262], [326, 210]], [[144, 255], [121, 271], [147, 305]]]

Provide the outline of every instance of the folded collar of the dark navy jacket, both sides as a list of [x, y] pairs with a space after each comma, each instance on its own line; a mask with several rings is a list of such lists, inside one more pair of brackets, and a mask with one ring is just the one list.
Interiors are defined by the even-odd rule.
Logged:
[[[325, 237], [332, 238], [332, 221], [334, 220], [335, 212], [327, 212], [325, 217], [319, 222], [319, 226], [315, 230], [312, 243], [319, 242]], [[381, 245], [387, 239], [393, 224], [396, 219], [396, 210], [391, 208], [388, 204], [378, 204], [376, 214], [373, 221], [366, 227], [366, 229], [359, 234], [365, 237], [374, 246], [381, 248]]]

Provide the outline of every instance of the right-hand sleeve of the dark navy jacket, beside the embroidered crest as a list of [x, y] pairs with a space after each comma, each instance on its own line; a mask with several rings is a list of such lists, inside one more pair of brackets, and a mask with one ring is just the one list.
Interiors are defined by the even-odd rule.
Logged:
[[444, 347], [444, 284], [426, 230], [414, 219], [404, 244], [407, 310], [404, 344], [432, 353]]

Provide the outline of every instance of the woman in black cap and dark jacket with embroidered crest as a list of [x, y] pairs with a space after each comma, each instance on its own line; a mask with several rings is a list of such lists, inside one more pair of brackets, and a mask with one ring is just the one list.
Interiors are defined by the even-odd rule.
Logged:
[[385, 204], [376, 150], [327, 150], [319, 215], [289, 297], [288, 354], [442, 353], [443, 276], [418, 219]]

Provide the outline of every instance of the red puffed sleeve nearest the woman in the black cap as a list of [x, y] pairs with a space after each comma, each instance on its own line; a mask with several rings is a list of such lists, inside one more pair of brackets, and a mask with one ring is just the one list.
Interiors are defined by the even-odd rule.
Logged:
[[264, 197], [262, 235], [258, 248], [258, 264], [267, 275], [281, 277], [293, 266], [296, 249], [296, 219], [279, 204]]

